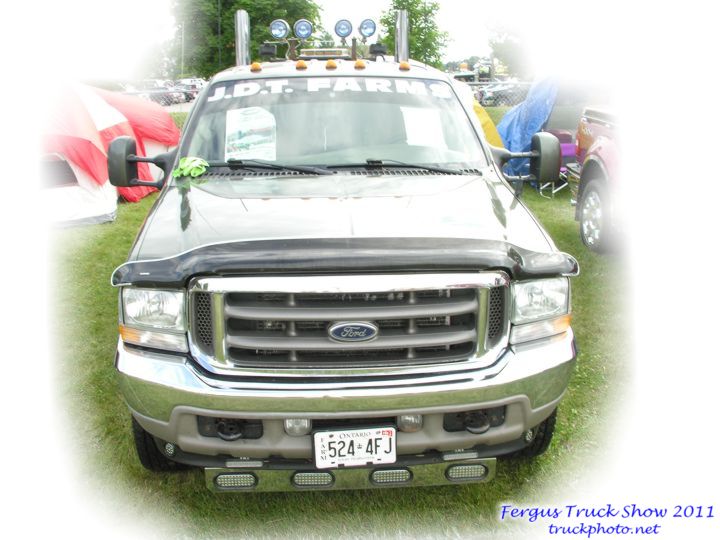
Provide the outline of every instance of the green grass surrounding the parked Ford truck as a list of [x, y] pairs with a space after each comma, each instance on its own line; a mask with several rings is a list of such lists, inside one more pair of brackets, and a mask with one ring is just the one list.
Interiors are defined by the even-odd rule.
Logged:
[[546, 199], [526, 188], [525, 203], [581, 267], [573, 280], [580, 355], [546, 454], [530, 462], [499, 462], [497, 477], [488, 484], [356, 492], [218, 495], [205, 488], [200, 470], [145, 471], [116, 386], [117, 291], [109, 280], [155, 198], [120, 205], [114, 223], [53, 233], [56, 380], [72, 451], [83, 476], [92, 477], [87, 482], [97, 497], [118, 498], [144, 515], [156, 512], [172, 536], [397, 537], [423, 530], [467, 537], [498, 527], [501, 503], [542, 504], [544, 497], [561, 496], [580, 471], [592, 470], [595, 452], [608, 444], [603, 424], [612, 418], [629, 373], [621, 339], [628, 333], [618, 285], [623, 269], [616, 258], [582, 246], [567, 190]]

